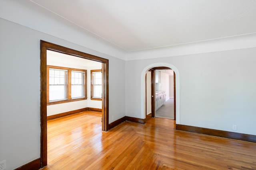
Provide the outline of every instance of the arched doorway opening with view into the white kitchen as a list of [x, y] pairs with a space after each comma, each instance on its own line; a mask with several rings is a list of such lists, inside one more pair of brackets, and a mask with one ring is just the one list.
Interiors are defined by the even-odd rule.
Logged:
[[[164, 117], [176, 120], [175, 72], [168, 67], [154, 67], [146, 72], [145, 79], [146, 120], [150, 117]], [[148, 87], [149, 85], [150, 88]], [[150, 90], [151, 94], [149, 94]], [[148, 116], [148, 100], [150, 98], [151, 113]]]

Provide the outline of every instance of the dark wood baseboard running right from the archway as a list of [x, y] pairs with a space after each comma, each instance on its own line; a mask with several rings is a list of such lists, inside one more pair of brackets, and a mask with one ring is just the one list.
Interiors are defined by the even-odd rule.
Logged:
[[220, 131], [216, 129], [208, 129], [203, 127], [195, 127], [195, 126], [179, 125], [179, 124], [176, 124], [176, 130], [200, 133], [204, 135], [212, 135], [217, 137], [225, 137], [229, 139], [236, 139], [240, 141], [248, 141], [248, 142], [256, 143], [256, 135], [248, 135], [243, 133]]

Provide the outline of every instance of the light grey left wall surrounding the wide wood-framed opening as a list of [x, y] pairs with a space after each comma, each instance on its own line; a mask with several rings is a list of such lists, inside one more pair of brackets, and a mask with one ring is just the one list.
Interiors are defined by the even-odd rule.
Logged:
[[1, 18], [0, 25], [0, 160], [7, 170], [40, 157], [41, 39], [108, 59], [109, 123], [125, 116], [125, 61]]

